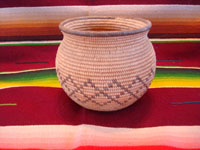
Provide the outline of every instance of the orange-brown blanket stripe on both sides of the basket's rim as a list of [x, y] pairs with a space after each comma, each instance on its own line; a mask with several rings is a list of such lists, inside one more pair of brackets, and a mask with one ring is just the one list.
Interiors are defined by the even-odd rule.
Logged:
[[[33, 36], [33, 35], [61, 35], [58, 29], [60, 21], [45, 21], [31, 23], [4, 24], [0, 26], [0, 36]], [[153, 33], [200, 33], [198, 22], [152, 22], [150, 34]]]

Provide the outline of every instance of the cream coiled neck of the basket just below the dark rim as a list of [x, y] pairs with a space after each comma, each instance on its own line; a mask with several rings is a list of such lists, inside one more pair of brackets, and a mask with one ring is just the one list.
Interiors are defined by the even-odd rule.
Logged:
[[128, 47], [135, 47], [136, 45], [143, 46], [142, 43], [149, 41], [147, 33], [148, 31], [133, 35], [115, 37], [89, 37], [63, 33], [63, 42], [70, 43], [70, 45], [76, 45], [77, 48], [84, 48], [83, 50], [91, 49], [92, 51], [101, 51], [101, 49], [106, 47], [107, 51], [112, 51], [114, 50], [113, 47], [122, 47], [122, 49], [127, 49]]

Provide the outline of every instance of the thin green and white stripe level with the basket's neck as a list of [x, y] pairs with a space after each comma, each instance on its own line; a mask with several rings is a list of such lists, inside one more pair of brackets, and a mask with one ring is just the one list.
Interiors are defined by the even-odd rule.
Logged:
[[[151, 40], [152, 43], [185, 43], [185, 42], [190, 42], [190, 43], [198, 43], [200, 40]], [[25, 45], [59, 45], [60, 42], [46, 42], [46, 43], [0, 43], [0, 46], [25, 46]]]

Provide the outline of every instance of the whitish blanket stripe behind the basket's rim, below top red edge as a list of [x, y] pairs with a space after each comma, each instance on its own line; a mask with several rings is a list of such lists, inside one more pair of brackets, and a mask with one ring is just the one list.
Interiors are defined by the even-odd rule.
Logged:
[[[200, 20], [200, 5], [101, 5], [12, 7], [0, 9], [0, 22], [64, 20], [87, 15], [111, 15], [142, 18], [193, 18]], [[194, 20], [195, 18], [195, 20]], [[180, 21], [179, 20], [179, 21]], [[177, 19], [175, 21], [178, 21]]]

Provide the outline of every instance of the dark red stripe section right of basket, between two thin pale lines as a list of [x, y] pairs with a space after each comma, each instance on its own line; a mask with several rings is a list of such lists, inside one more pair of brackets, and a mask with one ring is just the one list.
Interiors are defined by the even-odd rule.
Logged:
[[[200, 43], [153, 43], [157, 66], [200, 67]], [[176, 61], [177, 60], [177, 61]]]

